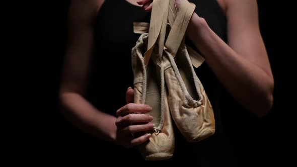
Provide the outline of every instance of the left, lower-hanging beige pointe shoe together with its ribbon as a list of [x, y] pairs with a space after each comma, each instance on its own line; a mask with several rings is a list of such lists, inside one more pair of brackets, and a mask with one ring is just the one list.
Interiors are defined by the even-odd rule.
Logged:
[[[165, 88], [164, 66], [161, 63], [169, 1], [171, 0], [155, 0], [153, 2], [150, 36], [147, 33], [142, 34], [132, 49], [134, 103], [147, 104], [153, 108], [147, 114], [154, 117], [152, 123], [155, 125], [153, 131], [146, 132], [152, 134], [149, 141], [138, 146], [145, 160], [171, 158], [175, 148], [174, 131], [167, 98], [168, 93]], [[164, 16], [164, 20], [160, 20], [162, 16]], [[155, 17], [158, 17], [158, 19]], [[141, 25], [143, 24], [138, 25], [138, 27], [141, 27]], [[143, 54], [145, 50], [147, 51]], [[153, 61], [148, 61], [150, 58]], [[141, 134], [137, 136], [139, 135]]]

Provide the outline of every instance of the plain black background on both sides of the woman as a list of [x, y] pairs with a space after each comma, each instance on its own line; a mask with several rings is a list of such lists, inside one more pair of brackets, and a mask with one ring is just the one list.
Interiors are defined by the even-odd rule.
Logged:
[[[296, 159], [297, 138], [293, 136], [297, 112], [297, 85], [293, 80], [297, 76], [294, 61], [296, 29], [293, 28], [296, 19], [292, 3], [288, 2], [258, 1], [260, 30], [272, 67], [275, 90], [273, 109], [254, 129], [255, 151], [251, 152], [254, 157], [251, 161], [255, 166], [292, 166]], [[25, 93], [19, 98], [22, 103], [16, 104], [14, 100], [11, 107], [21, 107], [22, 114], [12, 112], [12, 120], [5, 121], [11, 128], [6, 128], [8, 141], [4, 143], [3, 157], [8, 164], [29, 162], [40, 165], [98, 163], [104, 154], [106, 160], [113, 154], [107, 149], [110, 145], [100, 144], [101, 141], [73, 127], [59, 113], [58, 88], [67, 39], [69, 1], [51, 2], [44, 7], [49, 8], [33, 14], [37, 27], [31, 30], [37, 37], [28, 48], [32, 48], [29, 52], [36, 55], [28, 59], [30, 65], [17, 69], [17, 73], [26, 68], [30, 70], [25, 72], [26, 77], [17, 75], [17, 84], [21, 81]], [[16, 117], [21, 121], [16, 121]], [[13, 126], [12, 122], [20, 124]]]

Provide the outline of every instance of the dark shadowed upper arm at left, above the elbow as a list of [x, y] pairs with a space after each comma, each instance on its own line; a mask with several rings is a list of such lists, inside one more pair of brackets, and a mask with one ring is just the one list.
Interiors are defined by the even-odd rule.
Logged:
[[85, 93], [93, 50], [94, 23], [103, 2], [104, 0], [70, 2], [61, 92]]

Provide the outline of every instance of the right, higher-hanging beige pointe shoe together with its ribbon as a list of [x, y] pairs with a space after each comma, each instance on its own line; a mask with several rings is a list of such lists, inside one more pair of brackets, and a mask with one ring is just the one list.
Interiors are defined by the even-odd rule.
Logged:
[[[175, 7], [170, 3], [172, 8]], [[165, 43], [163, 63], [170, 64], [165, 70], [169, 91], [168, 100], [172, 118], [180, 132], [189, 142], [201, 141], [215, 132], [212, 106], [197, 77], [183, 41], [195, 5], [182, 1], [174, 18], [171, 31]]]

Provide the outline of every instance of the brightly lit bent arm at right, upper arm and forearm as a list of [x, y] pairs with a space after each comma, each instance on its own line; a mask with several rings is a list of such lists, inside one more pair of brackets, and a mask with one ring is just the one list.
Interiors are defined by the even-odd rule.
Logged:
[[228, 45], [193, 14], [187, 36], [225, 88], [248, 111], [265, 115], [271, 108], [274, 81], [258, 25], [255, 0], [226, 0]]

